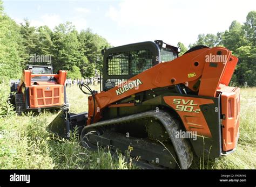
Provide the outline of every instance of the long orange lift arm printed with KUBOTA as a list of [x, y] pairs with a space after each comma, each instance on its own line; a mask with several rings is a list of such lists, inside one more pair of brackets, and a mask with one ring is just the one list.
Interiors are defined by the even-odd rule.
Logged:
[[[211, 55], [221, 55], [225, 58], [220, 58], [217, 62], [208, 62], [206, 57]], [[154, 88], [183, 83], [191, 90], [198, 91], [199, 96], [215, 97], [220, 83], [228, 85], [230, 82], [237, 62], [237, 57], [232, 56], [228, 49], [213, 47], [198, 49], [170, 62], [159, 63], [106, 92], [97, 93], [95, 106], [93, 97], [89, 96], [87, 125], [91, 124], [93, 117], [93, 123], [99, 121], [102, 109], [110, 104]], [[199, 87], [194, 87], [198, 82]], [[131, 106], [134, 103], [126, 105]]]

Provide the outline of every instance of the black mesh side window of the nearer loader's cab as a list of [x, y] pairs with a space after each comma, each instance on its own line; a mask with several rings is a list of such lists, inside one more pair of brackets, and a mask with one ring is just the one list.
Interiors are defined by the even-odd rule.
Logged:
[[149, 50], [112, 53], [107, 57], [107, 75], [137, 75], [153, 66], [153, 58]]

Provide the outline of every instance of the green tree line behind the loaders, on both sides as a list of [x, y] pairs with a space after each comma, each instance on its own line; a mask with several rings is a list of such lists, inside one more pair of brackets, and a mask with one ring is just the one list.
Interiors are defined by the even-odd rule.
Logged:
[[[255, 86], [256, 70], [256, 11], [251, 11], [245, 23], [232, 21], [229, 29], [217, 34], [199, 34], [188, 48], [205, 45], [224, 46], [238, 56], [239, 62], [232, 77], [233, 85]], [[181, 55], [188, 48], [181, 42]], [[101, 50], [111, 45], [89, 28], [78, 32], [70, 22], [59, 24], [53, 30], [48, 26], [31, 26], [29, 20], [17, 24], [4, 12], [0, 0], [0, 77], [19, 78], [26, 64], [36, 55], [51, 56], [55, 73], [68, 70], [71, 78], [92, 77], [95, 69], [103, 66]]]

